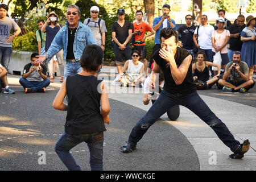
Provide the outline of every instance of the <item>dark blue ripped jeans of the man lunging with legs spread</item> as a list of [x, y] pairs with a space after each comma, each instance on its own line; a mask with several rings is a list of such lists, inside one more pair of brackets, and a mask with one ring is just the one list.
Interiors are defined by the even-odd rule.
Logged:
[[190, 94], [171, 94], [163, 90], [158, 100], [150, 107], [147, 114], [134, 126], [129, 136], [129, 143], [137, 144], [148, 128], [155, 123], [155, 121], [163, 115], [167, 109], [174, 105], [182, 105], [187, 107], [209, 125], [218, 138], [234, 152], [236, 147], [240, 144], [234, 139], [228, 127], [216, 117], [216, 115], [209, 109], [205, 102], [201, 99], [197, 92]]

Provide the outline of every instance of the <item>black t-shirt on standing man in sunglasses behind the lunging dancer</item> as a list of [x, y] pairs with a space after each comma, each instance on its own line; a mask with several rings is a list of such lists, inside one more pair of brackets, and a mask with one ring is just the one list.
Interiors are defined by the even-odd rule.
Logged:
[[196, 30], [196, 26], [191, 27], [182, 26], [177, 30], [181, 34], [181, 42], [184, 49], [193, 49], [193, 35]]

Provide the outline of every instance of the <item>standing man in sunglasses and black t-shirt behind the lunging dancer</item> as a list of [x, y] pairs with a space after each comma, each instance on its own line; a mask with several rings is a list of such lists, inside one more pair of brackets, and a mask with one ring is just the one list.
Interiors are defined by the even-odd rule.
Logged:
[[193, 60], [195, 60], [195, 54], [193, 52], [193, 35], [196, 30], [196, 26], [194, 26], [192, 22], [192, 15], [186, 15], [185, 16], [186, 24], [184, 26], [181, 26], [177, 30], [177, 34], [181, 35], [181, 44], [179, 44], [180, 47], [187, 49], [188, 52], [192, 53]]

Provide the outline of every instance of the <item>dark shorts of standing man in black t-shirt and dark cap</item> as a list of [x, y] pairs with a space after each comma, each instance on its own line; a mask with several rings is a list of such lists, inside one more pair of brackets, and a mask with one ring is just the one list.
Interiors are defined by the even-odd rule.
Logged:
[[131, 45], [127, 44], [123, 51], [118, 47], [119, 46], [117, 44], [114, 44], [115, 64], [122, 65], [123, 57], [125, 57], [126, 61], [131, 59]]

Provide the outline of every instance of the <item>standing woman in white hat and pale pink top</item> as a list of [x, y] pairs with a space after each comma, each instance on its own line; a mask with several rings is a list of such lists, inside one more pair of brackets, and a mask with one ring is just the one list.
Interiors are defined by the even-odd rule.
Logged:
[[[224, 72], [226, 64], [229, 63], [228, 56], [228, 42], [230, 39], [229, 30], [225, 30], [226, 22], [224, 18], [219, 17], [216, 20], [218, 29], [212, 32], [212, 55], [210, 56], [210, 61], [213, 62], [213, 56], [220, 51], [221, 53], [221, 69]], [[214, 75], [217, 75], [218, 71], [214, 71]]]

